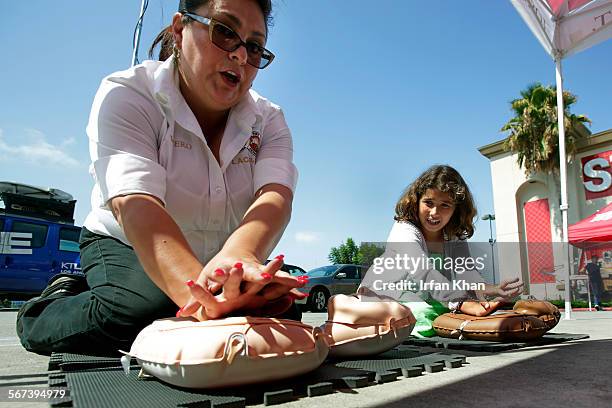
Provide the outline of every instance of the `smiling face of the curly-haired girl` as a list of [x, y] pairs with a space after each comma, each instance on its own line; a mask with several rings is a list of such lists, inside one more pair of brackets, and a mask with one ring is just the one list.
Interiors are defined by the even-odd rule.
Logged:
[[455, 212], [455, 204], [448, 195], [437, 189], [427, 189], [419, 200], [419, 222], [427, 241], [441, 241], [444, 227]]

